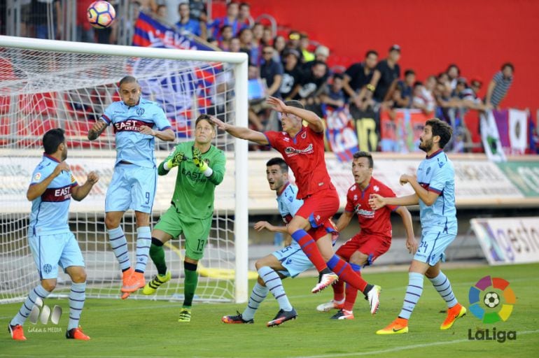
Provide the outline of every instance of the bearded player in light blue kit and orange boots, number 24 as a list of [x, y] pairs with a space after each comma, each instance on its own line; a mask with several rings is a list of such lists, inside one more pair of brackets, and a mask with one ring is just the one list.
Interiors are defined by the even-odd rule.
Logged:
[[447, 317], [440, 329], [449, 329], [455, 320], [466, 314], [451, 288], [449, 278], [440, 270], [444, 250], [454, 241], [457, 230], [455, 208], [455, 171], [453, 163], [443, 152], [453, 130], [437, 118], [426, 122], [419, 137], [419, 148], [427, 156], [419, 164], [417, 176], [403, 174], [400, 184], [409, 183], [414, 194], [399, 198], [384, 198], [373, 194], [369, 203], [374, 209], [386, 205], [417, 205], [421, 220], [421, 242], [408, 271], [408, 287], [402, 310], [397, 319], [377, 334], [404, 334], [408, 332], [408, 319], [423, 293], [423, 275], [447, 303]]

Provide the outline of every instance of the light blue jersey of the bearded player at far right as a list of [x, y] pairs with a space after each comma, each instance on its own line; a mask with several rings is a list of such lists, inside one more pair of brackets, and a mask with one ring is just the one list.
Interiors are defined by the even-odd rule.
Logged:
[[439, 194], [431, 206], [419, 199], [421, 229], [456, 235], [455, 171], [442, 150], [423, 159], [417, 169], [417, 181], [430, 192]]

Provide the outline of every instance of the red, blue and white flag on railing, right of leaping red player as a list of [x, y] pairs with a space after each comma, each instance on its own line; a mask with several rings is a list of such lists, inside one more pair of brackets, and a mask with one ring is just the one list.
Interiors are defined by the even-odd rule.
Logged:
[[353, 128], [353, 120], [348, 108], [331, 109], [325, 107], [325, 136], [332, 152], [341, 162], [351, 162], [353, 153], [358, 152], [358, 136]]

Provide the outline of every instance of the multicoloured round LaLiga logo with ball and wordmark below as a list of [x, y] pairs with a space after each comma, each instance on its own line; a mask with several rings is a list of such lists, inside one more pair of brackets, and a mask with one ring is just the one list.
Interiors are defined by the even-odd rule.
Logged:
[[[512, 313], [517, 297], [509, 287], [509, 282], [503, 278], [485, 276], [470, 287], [468, 293], [470, 300], [470, 312], [483, 323], [496, 323], [500, 320], [507, 321]], [[499, 308], [501, 306], [501, 308]], [[498, 341], [505, 342], [517, 339], [516, 331], [496, 331], [493, 327], [489, 329], [478, 329], [472, 336], [472, 330], [468, 329], [468, 340], [470, 341]]]

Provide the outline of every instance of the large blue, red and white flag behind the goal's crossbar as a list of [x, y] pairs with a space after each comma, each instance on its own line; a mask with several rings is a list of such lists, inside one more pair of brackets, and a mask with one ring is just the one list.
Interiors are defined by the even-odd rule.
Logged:
[[[153, 48], [213, 51], [208, 45], [175, 27], [162, 24], [150, 15], [140, 13], [134, 26], [133, 45]], [[223, 71], [222, 64], [181, 62], [172, 59], [133, 59], [132, 71], [139, 77], [142, 94], [161, 103], [177, 136], [190, 137], [192, 131], [193, 98], [201, 113], [214, 106], [216, 77]], [[144, 76], [155, 69], [175, 69], [172, 75]]]

